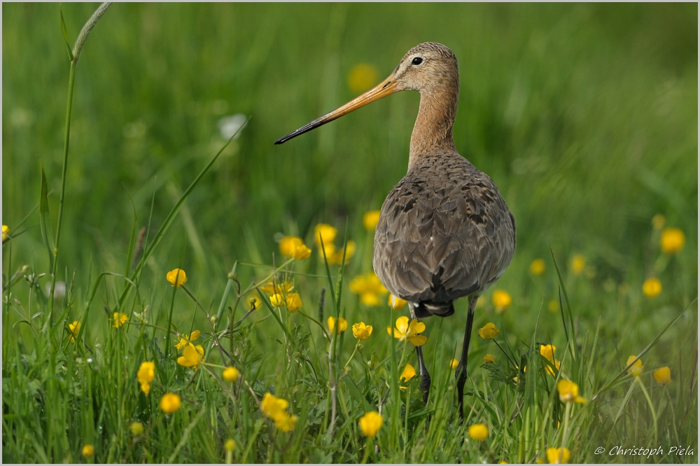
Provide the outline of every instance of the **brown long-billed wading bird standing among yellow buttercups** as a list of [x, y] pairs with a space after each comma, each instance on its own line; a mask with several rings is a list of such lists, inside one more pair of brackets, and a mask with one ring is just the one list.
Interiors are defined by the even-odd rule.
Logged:
[[[461, 359], [456, 368], [458, 412], [477, 300], [505, 272], [516, 243], [515, 218], [489, 175], [461, 156], [452, 130], [459, 95], [454, 53], [440, 43], [411, 48], [388, 78], [328, 114], [277, 139], [282, 144], [402, 90], [420, 92], [408, 170], [381, 205], [372, 266], [393, 296], [409, 303], [412, 319], [454, 314], [467, 297]], [[423, 402], [430, 374], [416, 346]]]

